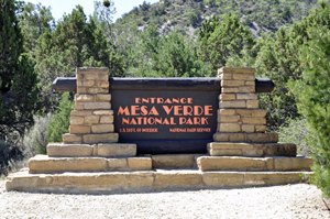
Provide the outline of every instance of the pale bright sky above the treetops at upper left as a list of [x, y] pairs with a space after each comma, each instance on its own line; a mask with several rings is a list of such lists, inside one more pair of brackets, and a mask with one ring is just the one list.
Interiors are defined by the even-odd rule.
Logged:
[[[24, 0], [25, 2], [32, 2], [34, 4], [41, 2], [45, 7], [52, 8], [52, 14], [57, 21], [63, 17], [64, 13], [70, 13], [73, 9], [80, 4], [87, 15], [94, 12], [94, 0]], [[116, 21], [121, 18], [122, 14], [128, 13], [134, 7], [142, 4], [144, 0], [112, 0], [114, 2], [114, 8], [117, 13], [113, 15]], [[146, 0], [146, 2], [155, 3], [160, 0]]]

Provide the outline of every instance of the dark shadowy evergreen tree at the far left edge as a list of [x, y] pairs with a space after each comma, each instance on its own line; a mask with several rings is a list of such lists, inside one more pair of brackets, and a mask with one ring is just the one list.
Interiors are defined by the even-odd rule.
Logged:
[[14, 0], [0, 0], [0, 139], [23, 135], [40, 109], [34, 61], [24, 54], [24, 39]]

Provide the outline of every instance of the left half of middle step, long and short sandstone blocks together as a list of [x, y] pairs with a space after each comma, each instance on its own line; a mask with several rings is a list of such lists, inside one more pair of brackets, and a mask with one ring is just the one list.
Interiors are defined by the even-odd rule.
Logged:
[[36, 155], [29, 161], [30, 174], [63, 172], [109, 172], [152, 169], [152, 158], [147, 156], [105, 158], [105, 157], [48, 157]]

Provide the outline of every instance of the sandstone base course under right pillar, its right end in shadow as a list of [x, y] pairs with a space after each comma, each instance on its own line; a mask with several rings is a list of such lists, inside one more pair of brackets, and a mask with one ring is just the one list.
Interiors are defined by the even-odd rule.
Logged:
[[210, 156], [296, 156], [296, 144], [210, 142]]

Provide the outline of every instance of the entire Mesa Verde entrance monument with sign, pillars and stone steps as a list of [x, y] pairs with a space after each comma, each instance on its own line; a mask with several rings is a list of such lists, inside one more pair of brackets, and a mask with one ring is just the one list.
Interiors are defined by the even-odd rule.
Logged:
[[117, 193], [222, 188], [304, 180], [311, 158], [266, 133], [256, 92], [272, 91], [254, 68], [221, 68], [218, 78], [109, 78], [77, 68], [57, 78], [74, 91], [69, 133], [7, 177], [8, 190]]

